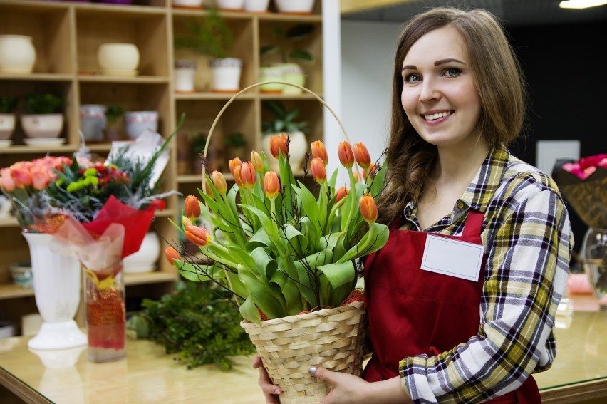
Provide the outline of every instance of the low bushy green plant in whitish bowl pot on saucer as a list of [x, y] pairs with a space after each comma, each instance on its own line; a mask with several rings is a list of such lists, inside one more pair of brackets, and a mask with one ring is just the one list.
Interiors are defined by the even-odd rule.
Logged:
[[63, 97], [53, 93], [30, 93], [26, 96], [21, 127], [28, 144], [48, 143], [63, 129]]

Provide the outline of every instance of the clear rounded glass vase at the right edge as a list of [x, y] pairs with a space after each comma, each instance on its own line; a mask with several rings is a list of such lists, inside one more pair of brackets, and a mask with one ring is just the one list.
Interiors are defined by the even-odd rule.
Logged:
[[601, 310], [607, 310], [607, 229], [591, 227], [583, 238], [584, 271]]

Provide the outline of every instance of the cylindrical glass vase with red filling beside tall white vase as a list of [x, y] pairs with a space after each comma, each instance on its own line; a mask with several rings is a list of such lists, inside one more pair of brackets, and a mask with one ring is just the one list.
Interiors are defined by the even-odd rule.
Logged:
[[85, 267], [88, 360], [117, 361], [126, 355], [123, 261], [93, 271]]

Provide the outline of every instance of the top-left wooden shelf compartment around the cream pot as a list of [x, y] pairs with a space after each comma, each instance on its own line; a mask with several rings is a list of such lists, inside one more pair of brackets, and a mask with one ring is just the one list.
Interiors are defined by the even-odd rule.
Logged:
[[71, 15], [66, 7], [0, 4], [0, 34], [26, 35], [36, 48], [36, 73], [73, 73]]

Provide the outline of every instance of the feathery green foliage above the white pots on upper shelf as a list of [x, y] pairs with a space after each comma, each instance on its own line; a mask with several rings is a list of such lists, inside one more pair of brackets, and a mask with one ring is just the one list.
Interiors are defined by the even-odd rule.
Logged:
[[176, 37], [176, 48], [190, 49], [212, 58], [225, 58], [227, 50], [234, 46], [234, 33], [217, 9], [209, 9], [204, 19], [195, 23], [188, 21], [185, 26], [192, 36]]

